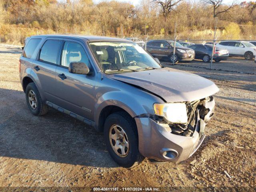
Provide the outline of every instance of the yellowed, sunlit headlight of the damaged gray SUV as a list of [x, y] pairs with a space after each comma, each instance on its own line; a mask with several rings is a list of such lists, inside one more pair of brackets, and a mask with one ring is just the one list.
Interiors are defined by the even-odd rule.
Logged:
[[188, 115], [185, 103], [155, 103], [154, 112], [163, 117], [167, 122], [187, 123]]

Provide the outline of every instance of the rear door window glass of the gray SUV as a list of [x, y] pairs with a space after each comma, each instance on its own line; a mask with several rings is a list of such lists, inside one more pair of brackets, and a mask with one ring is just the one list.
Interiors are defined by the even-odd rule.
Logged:
[[57, 64], [60, 41], [47, 40], [41, 48], [39, 60]]

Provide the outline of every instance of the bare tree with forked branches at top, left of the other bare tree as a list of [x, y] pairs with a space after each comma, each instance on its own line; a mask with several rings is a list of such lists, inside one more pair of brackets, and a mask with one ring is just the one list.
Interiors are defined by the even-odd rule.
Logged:
[[182, 1], [183, 0], [152, 0], [152, 3], [157, 6], [161, 6], [164, 19], [167, 20], [174, 6]]

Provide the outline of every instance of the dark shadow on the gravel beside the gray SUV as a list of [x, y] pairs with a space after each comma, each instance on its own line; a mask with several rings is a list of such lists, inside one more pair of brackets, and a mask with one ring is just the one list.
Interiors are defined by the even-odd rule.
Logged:
[[[118, 166], [106, 149], [102, 133], [54, 109], [44, 116], [33, 116], [22, 93], [0, 89], [0, 156], [82, 166]], [[19, 103], [14, 106], [8, 99]]]

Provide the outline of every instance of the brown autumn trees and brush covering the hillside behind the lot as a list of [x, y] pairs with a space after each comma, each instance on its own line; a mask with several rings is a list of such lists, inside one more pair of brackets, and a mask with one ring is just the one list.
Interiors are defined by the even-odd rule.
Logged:
[[123, 37], [256, 39], [256, 2], [223, 0], [0, 0], [2, 42], [22, 43], [35, 34]]

